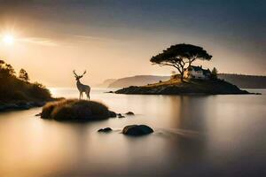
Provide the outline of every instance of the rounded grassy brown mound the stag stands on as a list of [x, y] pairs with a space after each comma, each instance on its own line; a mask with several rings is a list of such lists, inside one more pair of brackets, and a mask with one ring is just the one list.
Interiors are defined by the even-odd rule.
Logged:
[[63, 99], [43, 106], [43, 119], [56, 120], [95, 120], [109, 118], [105, 104], [94, 101]]

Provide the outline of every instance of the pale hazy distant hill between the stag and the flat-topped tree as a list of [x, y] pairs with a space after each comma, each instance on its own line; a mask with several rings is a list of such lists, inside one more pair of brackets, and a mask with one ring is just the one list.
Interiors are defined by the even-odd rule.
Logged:
[[156, 76], [156, 75], [136, 75], [133, 77], [121, 78], [113, 81], [108, 88], [125, 88], [129, 86], [143, 86], [148, 83], [155, 83], [158, 81], [167, 81], [169, 76]]

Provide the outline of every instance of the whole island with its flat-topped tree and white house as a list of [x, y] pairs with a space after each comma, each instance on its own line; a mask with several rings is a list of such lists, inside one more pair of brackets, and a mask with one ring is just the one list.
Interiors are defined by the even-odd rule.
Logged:
[[200, 46], [179, 43], [163, 50], [152, 57], [153, 65], [172, 66], [176, 68], [168, 81], [131, 86], [116, 90], [116, 94], [145, 94], [145, 95], [184, 95], [184, 94], [249, 94], [228, 81], [218, 79], [217, 69], [204, 69], [202, 65], [192, 65], [196, 60], [209, 61], [213, 56]]

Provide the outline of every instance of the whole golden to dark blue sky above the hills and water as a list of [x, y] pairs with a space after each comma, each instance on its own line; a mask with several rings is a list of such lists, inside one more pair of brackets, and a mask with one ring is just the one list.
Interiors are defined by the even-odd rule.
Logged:
[[150, 58], [177, 43], [213, 56], [195, 65], [219, 73], [266, 75], [264, 0], [0, 0], [0, 58], [48, 87], [174, 68]]

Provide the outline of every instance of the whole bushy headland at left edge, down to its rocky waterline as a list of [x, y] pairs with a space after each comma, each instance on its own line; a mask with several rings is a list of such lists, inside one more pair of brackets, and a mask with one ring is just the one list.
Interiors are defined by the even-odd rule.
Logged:
[[55, 100], [49, 89], [38, 82], [30, 82], [25, 69], [16, 74], [12, 65], [0, 60], [0, 112], [27, 110]]

